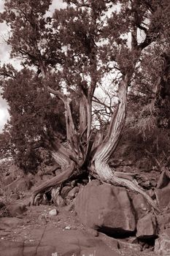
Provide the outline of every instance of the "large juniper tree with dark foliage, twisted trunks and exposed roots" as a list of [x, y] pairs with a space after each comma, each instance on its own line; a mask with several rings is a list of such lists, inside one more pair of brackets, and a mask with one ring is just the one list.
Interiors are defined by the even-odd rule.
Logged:
[[[53, 17], [47, 17], [50, 0], [39, 4], [31, 0], [6, 0], [1, 14], [1, 20], [10, 27], [7, 42], [12, 48], [11, 56], [22, 60], [23, 80], [24, 72], [34, 72], [35, 92], [40, 90], [55, 102], [62, 102], [64, 108], [66, 147], [57, 127], [48, 132], [42, 124], [44, 146], [61, 165], [62, 173], [38, 187], [32, 203], [37, 193], [90, 173], [101, 181], [142, 193], [156, 208], [152, 199], [134, 184], [131, 173], [112, 170], [108, 160], [125, 124], [128, 87], [136, 66], [144, 50], [160, 39], [161, 31], [167, 26], [169, 4], [156, 0], [65, 2], [65, 9], [55, 10]], [[55, 82], [50, 83], [53, 76]], [[10, 81], [15, 84], [15, 78], [6, 79], [4, 95]], [[107, 108], [110, 110], [107, 130], [92, 129], [93, 116], [99, 114], [94, 111], [93, 100], [98, 88], [108, 88], [109, 83], [117, 89], [117, 105]], [[20, 86], [24, 85], [20, 83]], [[106, 105], [102, 99], [98, 100]]]

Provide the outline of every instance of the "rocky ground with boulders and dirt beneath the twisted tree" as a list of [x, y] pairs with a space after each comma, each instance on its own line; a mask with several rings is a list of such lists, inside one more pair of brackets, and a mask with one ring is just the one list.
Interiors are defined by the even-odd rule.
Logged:
[[28, 206], [31, 189], [50, 177], [49, 173], [36, 177], [17, 173], [14, 177], [10, 171], [4, 175], [1, 256], [170, 255], [168, 170], [140, 176], [141, 184], [161, 208], [159, 214], [142, 195], [96, 180], [66, 184], [61, 190], [67, 198], [65, 206], [44, 205], [47, 202], [43, 201]]

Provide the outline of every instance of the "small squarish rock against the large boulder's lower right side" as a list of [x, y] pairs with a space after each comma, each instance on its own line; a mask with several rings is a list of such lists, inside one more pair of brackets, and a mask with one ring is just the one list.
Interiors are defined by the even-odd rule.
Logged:
[[138, 238], [154, 238], [158, 236], [158, 225], [155, 216], [147, 214], [142, 219], [139, 219], [136, 230], [136, 237]]

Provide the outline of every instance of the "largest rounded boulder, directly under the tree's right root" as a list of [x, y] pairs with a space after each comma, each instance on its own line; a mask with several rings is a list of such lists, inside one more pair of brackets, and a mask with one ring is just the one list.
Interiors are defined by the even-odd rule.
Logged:
[[91, 181], [77, 195], [80, 222], [104, 233], [131, 233], [136, 229], [134, 208], [123, 187]]

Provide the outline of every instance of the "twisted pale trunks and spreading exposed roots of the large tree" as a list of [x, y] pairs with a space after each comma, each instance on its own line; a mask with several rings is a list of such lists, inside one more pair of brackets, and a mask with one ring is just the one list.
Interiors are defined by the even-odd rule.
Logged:
[[[80, 104], [80, 132], [78, 133], [74, 127], [70, 101], [62, 97], [66, 107], [67, 136], [71, 147], [69, 148], [68, 146], [65, 148], [58, 142], [53, 143], [52, 155], [55, 161], [61, 165], [62, 173], [59, 173], [58, 176], [50, 179], [50, 181], [45, 181], [44, 184], [37, 187], [32, 194], [31, 204], [36, 203], [34, 199], [39, 192], [45, 192], [50, 187], [60, 185], [64, 181], [73, 177], [76, 178], [80, 173], [90, 170], [90, 174], [102, 182], [114, 186], [127, 187], [134, 192], [139, 192], [146, 198], [150, 206], [159, 212], [158, 207], [150, 196], [133, 180], [133, 174], [117, 173], [108, 165], [108, 159], [112, 156], [113, 151], [115, 151], [125, 123], [128, 82], [128, 76], [125, 76], [120, 83], [119, 102], [115, 113], [112, 115], [107, 135], [104, 140], [98, 140], [98, 136], [96, 136], [93, 145], [92, 143], [90, 144], [89, 127], [91, 124], [89, 122], [91, 122], [91, 117], [89, 115], [91, 106], [88, 98], [85, 97], [85, 94], [82, 94]], [[51, 89], [50, 92], [58, 95], [58, 92]], [[79, 138], [79, 142], [77, 138]]]

